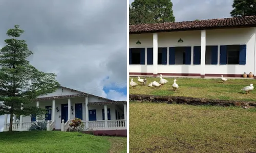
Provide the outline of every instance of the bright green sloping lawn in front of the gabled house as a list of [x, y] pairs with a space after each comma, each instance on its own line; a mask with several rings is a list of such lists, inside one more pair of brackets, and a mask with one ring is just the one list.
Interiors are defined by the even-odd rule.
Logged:
[[58, 131], [2, 132], [0, 152], [126, 152], [126, 138]]

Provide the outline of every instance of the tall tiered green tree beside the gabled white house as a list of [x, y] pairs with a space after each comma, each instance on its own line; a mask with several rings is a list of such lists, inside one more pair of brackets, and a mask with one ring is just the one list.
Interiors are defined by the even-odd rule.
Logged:
[[53, 73], [44, 73], [30, 65], [27, 58], [33, 53], [25, 40], [17, 39], [24, 30], [15, 25], [7, 31], [4, 46], [0, 50], [0, 115], [10, 114], [12, 131], [13, 115], [45, 114], [45, 109], [30, 105], [39, 95], [54, 92], [59, 83]]

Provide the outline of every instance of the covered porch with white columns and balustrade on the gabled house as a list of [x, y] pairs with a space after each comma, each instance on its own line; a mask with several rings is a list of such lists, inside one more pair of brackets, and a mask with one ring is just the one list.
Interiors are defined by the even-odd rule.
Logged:
[[[13, 131], [28, 131], [32, 123], [46, 122], [47, 130], [68, 131], [74, 118], [80, 118], [85, 125], [84, 131], [126, 130], [126, 101], [98, 102], [88, 95], [69, 98], [40, 98], [34, 104], [47, 109], [43, 116], [13, 116]], [[4, 131], [9, 130], [5, 115]]]

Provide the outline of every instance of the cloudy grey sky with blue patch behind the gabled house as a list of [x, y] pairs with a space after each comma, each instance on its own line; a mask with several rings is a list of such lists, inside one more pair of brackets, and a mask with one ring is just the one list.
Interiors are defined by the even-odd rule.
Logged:
[[[19, 24], [31, 64], [62, 86], [126, 100], [126, 1], [0, 2], [0, 47]], [[3, 127], [0, 116], [0, 129]]]

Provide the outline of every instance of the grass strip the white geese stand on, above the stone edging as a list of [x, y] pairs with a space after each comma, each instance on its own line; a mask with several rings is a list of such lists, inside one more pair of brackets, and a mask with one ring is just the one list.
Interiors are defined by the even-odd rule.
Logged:
[[[138, 85], [136, 88], [130, 86], [130, 94], [164, 95], [164, 96], [186, 96], [197, 98], [221, 99], [221, 100], [243, 100], [256, 101], [256, 80], [232, 79], [227, 80], [225, 84], [220, 79], [190, 79], [178, 78], [177, 84], [179, 91], [173, 91], [172, 85], [174, 79], [164, 78], [168, 83], [155, 89], [148, 87], [150, 82], [157, 81], [159, 78], [147, 78], [147, 85]], [[137, 78], [133, 78], [138, 83]], [[131, 78], [130, 78], [131, 81]], [[246, 95], [241, 89], [245, 86], [254, 84], [255, 89]]]

